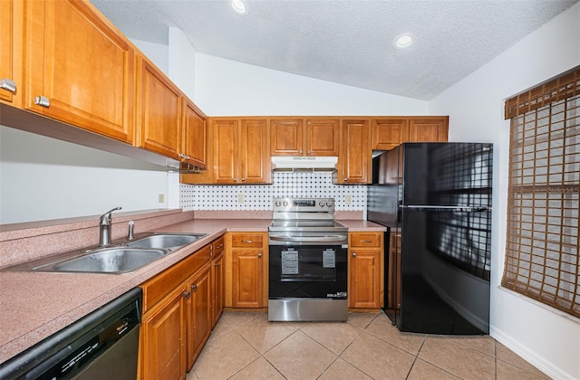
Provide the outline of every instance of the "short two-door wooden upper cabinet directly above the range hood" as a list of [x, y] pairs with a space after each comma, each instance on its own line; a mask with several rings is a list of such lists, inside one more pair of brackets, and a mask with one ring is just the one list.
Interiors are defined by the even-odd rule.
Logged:
[[339, 119], [271, 119], [272, 156], [338, 156]]

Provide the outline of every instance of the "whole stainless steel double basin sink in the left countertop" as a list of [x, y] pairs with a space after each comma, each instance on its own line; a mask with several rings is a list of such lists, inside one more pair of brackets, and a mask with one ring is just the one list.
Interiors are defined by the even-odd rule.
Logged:
[[207, 233], [145, 233], [110, 247], [61, 253], [6, 268], [6, 271], [52, 271], [124, 274], [196, 242]]

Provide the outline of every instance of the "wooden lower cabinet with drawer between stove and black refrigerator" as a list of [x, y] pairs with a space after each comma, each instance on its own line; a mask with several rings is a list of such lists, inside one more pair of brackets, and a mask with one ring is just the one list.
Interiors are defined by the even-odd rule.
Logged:
[[381, 309], [383, 233], [349, 233], [348, 304], [351, 309]]

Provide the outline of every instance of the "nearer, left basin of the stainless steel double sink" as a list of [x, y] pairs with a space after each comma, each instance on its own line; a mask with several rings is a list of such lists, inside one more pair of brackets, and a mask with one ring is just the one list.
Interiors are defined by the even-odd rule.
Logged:
[[[110, 248], [92, 252], [75, 259], [61, 261], [56, 263], [56, 265], [49, 264], [49, 266], [52, 267], [53, 271], [128, 273], [160, 259], [167, 253], [164, 250]], [[42, 271], [42, 268], [36, 270]]]

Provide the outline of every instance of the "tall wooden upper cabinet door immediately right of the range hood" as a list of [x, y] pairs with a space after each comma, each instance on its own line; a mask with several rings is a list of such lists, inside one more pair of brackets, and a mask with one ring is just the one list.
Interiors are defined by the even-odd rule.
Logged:
[[337, 183], [369, 183], [372, 176], [372, 149], [368, 120], [343, 120], [341, 139]]

